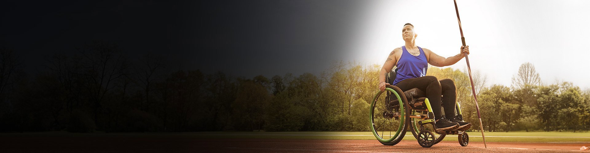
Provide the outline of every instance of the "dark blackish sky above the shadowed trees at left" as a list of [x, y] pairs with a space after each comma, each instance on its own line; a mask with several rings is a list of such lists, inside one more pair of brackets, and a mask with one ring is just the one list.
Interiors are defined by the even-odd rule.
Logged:
[[168, 66], [242, 77], [319, 74], [350, 55], [363, 1], [3, 2], [0, 45], [25, 72], [53, 54], [112, 42], [130, 58], [147, 52]]

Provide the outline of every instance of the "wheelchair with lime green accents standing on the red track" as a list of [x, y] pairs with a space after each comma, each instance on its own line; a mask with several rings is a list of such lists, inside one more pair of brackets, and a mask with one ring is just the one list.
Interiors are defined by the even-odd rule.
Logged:
[[[391, 71], [386, 76], [386, 82], [392, 84], [394, 80], [395, 71]], [[386, 93], [385, 96], [382, 96], [383, 92]], [[456, 111], [455, 117], [463, 119], [458, 102]], [[427, 124], [431, 124], [432, 127]], [[459, 144], [463, 147], [469, 144], [467, 132], [437, 131], [434, 124], [430, 101], [418, 88], [402, 91], [394, 85], [388, 85], [385, 91], [379, 91], [371, 102], [371, 130], [383, 145], [398, 144], [408, 129], [418, 140], [418, 144], [425, 148], [438, 144], [445, 135], [458, 135]]]

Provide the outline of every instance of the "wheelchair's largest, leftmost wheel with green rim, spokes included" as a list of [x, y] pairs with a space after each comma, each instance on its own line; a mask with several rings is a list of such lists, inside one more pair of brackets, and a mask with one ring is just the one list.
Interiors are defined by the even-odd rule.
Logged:
[[[397, 101], [386, 102], [383, 93], [399, 97]], [[371, 131], [383, 145], [395, 145], [404, 139], [409, 119], [405, 114], [411, 110], [404, 92], [394, 85], [388, 85], [385, 91], [379, 91], [371, 102]], [[397, 118], [395, 117], [397, 116]], [[392, 135], [392, 132], [395, 134]]]

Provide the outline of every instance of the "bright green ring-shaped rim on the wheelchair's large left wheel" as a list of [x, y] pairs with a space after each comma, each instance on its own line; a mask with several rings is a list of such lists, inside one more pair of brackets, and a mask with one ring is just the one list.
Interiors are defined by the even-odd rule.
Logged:
[[402, 98], [399, 97], [398, 92], [395, 92], [394, 89], [391, 88], [385, 88], [386, 91], [389, 92], [393, 92], [395, 94], [395, 97], [398, 98], [399, 101], [399, 111], [401, 111], [401, 116], [399, 117], [399, 127], [398, 127], [398, 131], [395, 132], [395, 135], [389, 139], [383, 139], [381, 137], [379, 137], [379, 135], [377, 134], [377, 131], [375, 131], [375, 122], [373, 122], [373, 116], [375, 114], [375, 109], [373, 109], [373, 107], [375, 107], [375, 103], [377, 98], [379, 97], [379, 95], [381, 95], [381, 93], [383, 91], [379, 91], [377, 92], [377, 94], [373, 97], [373, 101], [371, 103], [371, 131], [373, 131], [373, 135], [375, 135], [375, 138], [377, 138], [377, 140], [384, 142], [384, 143], [389, 143], [391, 141], [394, 141], [395, 138], [398, 137], [399, 132], [401, 132], [403, 130], [404, 127], [404, 120], [405, 120], [405, 111], [404, 111], [404, 101], [402, 101]]

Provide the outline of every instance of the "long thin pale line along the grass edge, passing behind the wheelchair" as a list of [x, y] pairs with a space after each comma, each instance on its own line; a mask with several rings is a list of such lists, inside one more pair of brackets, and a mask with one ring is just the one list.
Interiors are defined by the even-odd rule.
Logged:
[[[194, 134], [194, 135], [264, 135], [264, 136], [374, 136], [374, 135], [330, 135], [330, 134]], [[414, 135], [405, 135], [404, 137], [414, 137]], [[458, 137], [457, 135], [446, 135], [445, 137]], [[470, 135], [469, 137], [481, 137]], [[501, 138], [590, 138], [590, 137], [537, 137], [537, 136], [486, 136]]]

